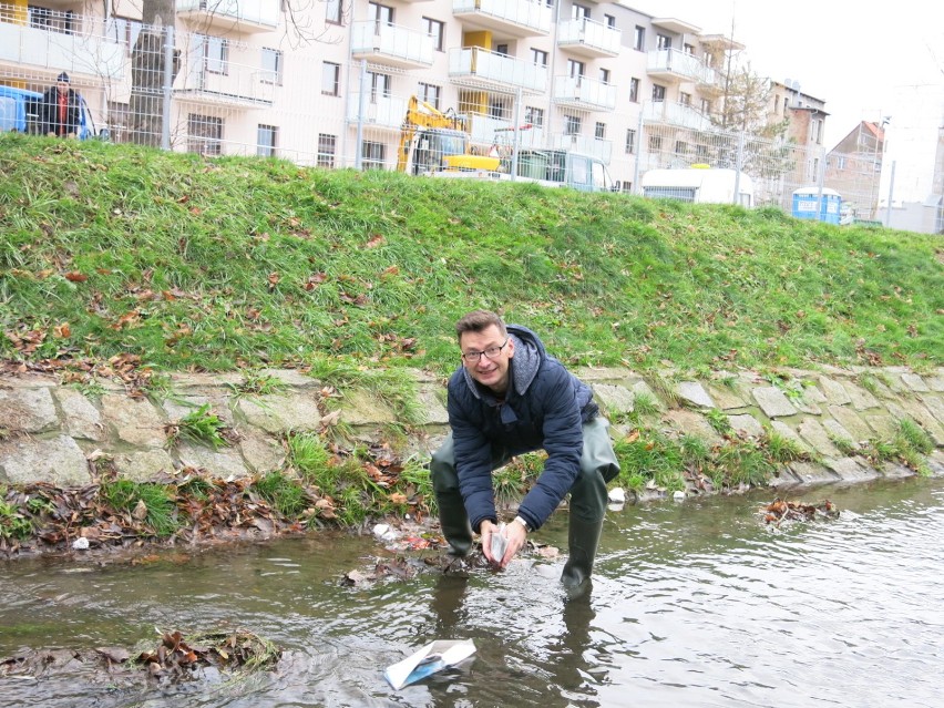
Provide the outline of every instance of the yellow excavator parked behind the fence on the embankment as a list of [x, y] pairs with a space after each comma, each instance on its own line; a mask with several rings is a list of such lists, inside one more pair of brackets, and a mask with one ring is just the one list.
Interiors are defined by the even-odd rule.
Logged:
[[408, 174], [442, 171], [496, 171], [500, 160], [475, 154], [468, 122], [452, 109], [445, 113], [411, 96], [400, 131], [397, 170]]

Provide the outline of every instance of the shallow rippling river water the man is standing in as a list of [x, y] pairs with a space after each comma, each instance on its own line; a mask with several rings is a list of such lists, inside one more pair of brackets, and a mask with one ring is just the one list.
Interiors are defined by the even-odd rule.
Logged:
[[[779, 529], [758, 514], [771, 499], [609, 512], [581, 601], [558, 587], [563, 558], [345, 586], [384, 551], [329, 534], [143, 566], [6, 563], [0, 657], [153, 647], [154, 627], [248, 629], [284, 655], [236, 685], [0, 678], [0, 705], [943, 706], [944, 480], [790, 495], [841, 515]], [[566, 514], [535, 536], [565, 548]], [[384, 681], [384, 666], [449, 638], [473, 639], [474, 658], [399, 691]]]

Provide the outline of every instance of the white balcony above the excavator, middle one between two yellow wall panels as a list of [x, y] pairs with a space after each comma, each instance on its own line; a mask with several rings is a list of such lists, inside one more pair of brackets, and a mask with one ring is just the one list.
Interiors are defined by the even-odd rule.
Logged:
[[547, 68], [490, 52], [481, 47], [449, 50], [452, 83], [495, 93], [544, 93]]

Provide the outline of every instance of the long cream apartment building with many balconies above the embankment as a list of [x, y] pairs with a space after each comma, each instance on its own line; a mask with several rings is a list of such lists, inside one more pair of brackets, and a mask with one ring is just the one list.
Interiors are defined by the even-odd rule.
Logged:
[[[516, 143], [591, 154], [629, 191], [640, 170], [710, 157], [690, 136], [710, 127], [727, 53], [743, 49], [680, 19], [592, 0], [177, 0], [176, 9], [168, 48], [142, 25], [140, 1], [2, 4], [0, 83], [39, 91], [66, 71], [116, 141], [141, 105], [161, 106], [174, 150], [387, 170], [415, 95], [468, 116], [482, 151]], [[135, 91], [148, 71], [164, 90], [142, 103]]]

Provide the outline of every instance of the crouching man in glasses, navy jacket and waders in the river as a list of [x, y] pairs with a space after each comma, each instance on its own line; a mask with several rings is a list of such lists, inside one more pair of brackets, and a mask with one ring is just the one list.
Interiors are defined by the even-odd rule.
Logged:
[[[462, 365], [449, 380], [451, 432], [432, 454], [430, 475], [450, 555], [464, 556], [472, 532], [504, 568], [570, 492], [570, 557], [561, 577], [577, 589], [591, 576], [603, 520], [606, 484], [619, 473], [609, 422], [591, 388], [567, 371], [526, 327], [475, 310], [455, 325]], [[513, 456], [544, 450], [547, 459], [517, 515], [500, 532], [492, 472]], [[502, 557], [492, 535], [502, 533]]]

